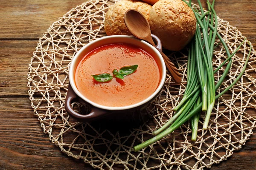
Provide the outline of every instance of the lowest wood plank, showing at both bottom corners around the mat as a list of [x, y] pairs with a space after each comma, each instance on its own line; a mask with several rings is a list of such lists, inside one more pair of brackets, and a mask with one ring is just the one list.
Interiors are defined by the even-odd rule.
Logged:
[[[49, 142], [27, 97], [0, 98], [0, 103], [0, 169], [89, 168], [82, 160], [61, 153], [55, 144]], [[235, 151], [231, 158], [214, 165], [211, 170], [243, 169], [248, 166], [256, 169], [255, 143], [256, 136], [253, 135], [240, 151]]]

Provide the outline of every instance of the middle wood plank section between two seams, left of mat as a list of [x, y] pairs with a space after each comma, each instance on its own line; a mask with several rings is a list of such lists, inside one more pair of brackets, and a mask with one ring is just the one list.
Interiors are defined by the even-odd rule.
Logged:
[[0, 41], [0, 97], [28, 96], [27, 73], [37, 41]]

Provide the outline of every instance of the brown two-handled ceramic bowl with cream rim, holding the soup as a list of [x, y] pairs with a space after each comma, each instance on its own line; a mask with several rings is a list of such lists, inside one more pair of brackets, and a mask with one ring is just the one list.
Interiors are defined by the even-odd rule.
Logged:
[[[133, 36], [126, 35], [113, 35], [102, 37], [93, 42], [88, 43], [83, 48], [81, 48], [78, 53], [73, 57], [72, 62], [70, 63], [69, 68], [69, 86], [65, 101], [65, 109], [67, 113], [72, 116], [74, 119], [79, 122], [94, 122], [94, 121], [128, 121], [128, 122], [141, 122], [143, 120], [143, 114], [148, 114], [152, 112], [154, 106], [152, 102], [158, 102], [160, 99], [160, 94], [163, 90], [163, 85], [166, 79], [166, 65], [160, 54], [161, 51], [161, 42], [158, 37], [152, 34], [153, 39], [157, 42], [156, 46], [150, 45], [148, 42], [139, 40]], [[109, 44], [120, 44], [120, 43], [129, 43], [133, 44], [144, 51], [146, 51], [151, 56], [154, 56], [155, 61], [157, 62], [159, 71], [160, 71], [160, 81], [156, 90], [148, 96], [143, 101], [137, 102], [133, 105], [123, 106], [123, 107], [110, 107], [101, 105], [99, 103], [93, 102], [84, 95], [82, 95], [75, 83], [75, 72], [76, 68], [79, 65], [79, 62], [83, 57], [88, 54], [90, 51], [93, 51], [96, 48], [102, 47]], [[154, 80], [152, 80], [154, 81]], [[84, 105], [89, 106], [89, 113], [78, 113], [73, 110], [71, 104], [73, 102], [81, 102]]]

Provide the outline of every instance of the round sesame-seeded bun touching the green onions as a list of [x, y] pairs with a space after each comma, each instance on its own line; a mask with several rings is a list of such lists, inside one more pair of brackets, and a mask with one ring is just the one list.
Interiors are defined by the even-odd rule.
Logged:
[[160, 38], [164, 48], [183, 49], [196, 31], [194, 12], [182, 0], [160, 0], [150, 12], [151, 32]]

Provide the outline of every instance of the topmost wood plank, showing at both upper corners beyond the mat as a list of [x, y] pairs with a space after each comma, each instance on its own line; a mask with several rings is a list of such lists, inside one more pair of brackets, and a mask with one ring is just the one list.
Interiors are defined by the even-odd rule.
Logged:
[[[35, 0], [22, 3], [20, 0], [1, 1], [0, 6], [4, 10], [0, 11], [0, 40], [37, 40], [54, 21], [84, 2], [85, 0]], [[193, 2], [197, 3], [197, 0]], [[203, 6], [207, 7], [205, 2], [202, 1]], [[216, 0], [215, 9], [219, 17], [239, 28], [244, 36], [255, 43], [255, 4], [256, 0]]]

